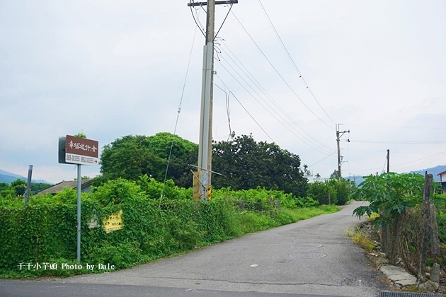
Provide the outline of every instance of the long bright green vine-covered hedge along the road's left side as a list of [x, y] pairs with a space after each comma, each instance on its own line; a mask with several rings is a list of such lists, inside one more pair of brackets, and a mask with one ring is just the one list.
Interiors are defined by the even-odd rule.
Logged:
[[[91, 193], [82, 193], [82, 269], [61, 269], [62, 264], [77, 264], [76, 190], [32, 196], [26, 207], [14, 197], [0, 197], [0, 276], [91, 273], [86, 263], [122, 269], [338, 210], [261, 188], [216, 190], [210, 202], [191, 197], [190, 189], [173, 182], [162, 185], [147, 175], [137, 182], [109, 180]], [[106, 233], [103, 226], [96, 227], [121, 210], [122, 230]], [[58, 268], [50, 269], [55, 264]]]

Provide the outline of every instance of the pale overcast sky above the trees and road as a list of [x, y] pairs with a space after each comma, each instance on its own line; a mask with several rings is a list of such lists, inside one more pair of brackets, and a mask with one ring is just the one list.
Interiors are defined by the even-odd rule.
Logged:
[[[187, 4], [0, 1], [0, 169], [72, 180], [58, 138], [79, 132], [198, 144], [205, 8]], [[446, 1], [239, 0], [215, 28], [216, 141], [230, 122], [329, 177], [341, 124], [344, 177], [386, 170], [387, 149], [397, 173], [446, 165]]]

